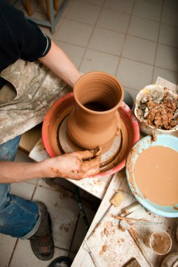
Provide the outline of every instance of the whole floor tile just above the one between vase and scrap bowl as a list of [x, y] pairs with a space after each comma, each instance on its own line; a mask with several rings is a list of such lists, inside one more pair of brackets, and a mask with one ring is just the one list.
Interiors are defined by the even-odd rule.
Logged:
[[156, 54], [156, 42], [140, 39], [138, 37], [126, 37], [122, 56], [143, 63], [153, 64]]

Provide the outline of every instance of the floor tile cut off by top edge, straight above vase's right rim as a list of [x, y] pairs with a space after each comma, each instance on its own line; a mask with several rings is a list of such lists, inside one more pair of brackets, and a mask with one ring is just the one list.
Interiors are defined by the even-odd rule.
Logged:
[[114, 11], [131, 13], [134, 0], [106, 0], [104, 8], [111, 8]]

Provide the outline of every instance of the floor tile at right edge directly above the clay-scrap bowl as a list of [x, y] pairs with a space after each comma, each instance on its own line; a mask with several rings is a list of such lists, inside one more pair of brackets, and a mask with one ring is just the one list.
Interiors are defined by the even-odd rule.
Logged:
[[155, 67], [153, 73], [153, 84], [156, 82], [156, 79], [162, 77], [163, 79], [167, 79], [167, 81], [172, 82], [173, 84], [177, 84], [178, 73], [172, 72], [171, 70], [165, 70], [160, 67]]

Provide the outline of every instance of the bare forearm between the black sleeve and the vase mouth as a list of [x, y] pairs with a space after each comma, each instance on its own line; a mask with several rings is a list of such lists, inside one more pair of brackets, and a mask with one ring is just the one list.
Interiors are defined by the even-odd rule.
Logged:
[[51, 48], [48, 54], [43, 58], [39, 58], [39, 60], [72, 88], [80, 77], [74, 64], [53, 41], [51, 41]]

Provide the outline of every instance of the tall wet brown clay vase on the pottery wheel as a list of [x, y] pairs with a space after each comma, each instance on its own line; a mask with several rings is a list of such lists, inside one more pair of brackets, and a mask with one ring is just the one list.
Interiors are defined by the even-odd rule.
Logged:
[[76, 145], [102, 152], [109, 149], [120, 125], [123, 101], [120, 82], [105, 72], [88, 72], [74, 86], [75, 108], [67, 119], [67, 133]]

